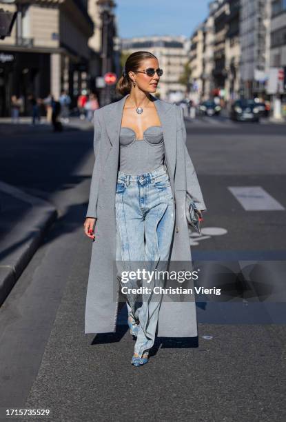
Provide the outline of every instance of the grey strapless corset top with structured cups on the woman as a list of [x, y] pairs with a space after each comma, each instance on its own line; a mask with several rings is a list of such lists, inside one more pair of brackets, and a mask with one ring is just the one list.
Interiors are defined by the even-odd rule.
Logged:
[[161, 126], [150, 126], [143, 139], [136, 139], [131, 128], [120, 130], [119, 170], [127, 174], [143, 174], [156, 170], [164, 161], [164, 138]]

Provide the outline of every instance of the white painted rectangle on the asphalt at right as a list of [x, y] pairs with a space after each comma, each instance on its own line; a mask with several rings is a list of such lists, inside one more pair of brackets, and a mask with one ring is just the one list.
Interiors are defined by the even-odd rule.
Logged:
[[246, 211], [285, 210], [283, 205], [261, 186], [228, 186], [228, 189]]

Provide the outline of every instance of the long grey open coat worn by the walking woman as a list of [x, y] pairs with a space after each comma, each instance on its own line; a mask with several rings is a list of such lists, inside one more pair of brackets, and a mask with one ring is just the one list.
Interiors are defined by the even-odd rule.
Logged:
[[[115, 332], [118, 301], [114, 299], [116, 262], [115, 191], [119, 168], [119, 132], [128, 94], [94, 112], [95, 163], [86, 217], [96, 217], [90, 274], [85, 307], [85, 334]], [[174, 197], [174, 230], [170, 251], [172, 261], [190, 261], [190, 237], [185, 217], [186, 191], [198, 209], [206, 210], [196, 171], [185, 145], [183, 110], [175, 104], [154, 99], [163, 128], [165, 164]], [[170, 295], [174, 297], [174, 294]], [[167, 298], [166, 298], [167, 299]], [[176, 299], [177, 300], [177, 299]], [[194, 301], [163, 299], [159, 312], [158, 336], [197, 336]]]

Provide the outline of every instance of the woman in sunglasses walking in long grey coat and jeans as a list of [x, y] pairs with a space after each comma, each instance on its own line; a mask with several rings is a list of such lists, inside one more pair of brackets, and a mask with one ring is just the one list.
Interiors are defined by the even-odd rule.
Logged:
[[[137, 270], [144, 262], [146, 270], [165, 270], [170, 259], [191, 260], [187, 192], [200, 215], [206, 210], [185, 147], [182, 110], [152, 95], [162, 74], [154, 54], [134, 52], [116, 86], [123, 99], [94, 112], [95, 163], [84, 223], [94, 240], [85, 333], [115, 330], [119, 289], [114, 294], [114, 280], [126, 285], [119, 269]], [[153, 293], [161, 285], [154, 278], [142, 285], [150, 288], [142, 303], [136, 293], [126, 294], [127, 322], [136, 338], [134, 366], [147, 363], [157, 327], [163, 336], [197, 335], [195, 303], [163, 302], [163, 294]]]

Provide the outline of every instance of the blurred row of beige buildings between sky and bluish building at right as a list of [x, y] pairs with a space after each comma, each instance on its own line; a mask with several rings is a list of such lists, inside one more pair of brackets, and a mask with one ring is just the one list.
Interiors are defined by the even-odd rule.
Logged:
[[209, 16], [191, 37], [192, 99], [233, 101], [240, 89], [240, 0], [216, 0], [209, 7]]

